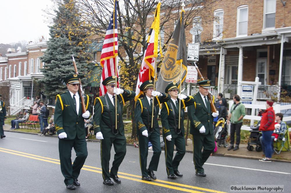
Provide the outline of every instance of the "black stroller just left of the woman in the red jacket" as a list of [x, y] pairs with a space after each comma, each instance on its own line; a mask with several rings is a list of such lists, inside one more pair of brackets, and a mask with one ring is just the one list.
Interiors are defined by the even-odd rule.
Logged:
[[247, 149], [249, 151], [253, 151], [254, 147], [252, 145], [255, 145], [255, 150], [260, 152], [262, 151], [262, 146], [261, 146], [261, 142], [260, 142], [260, 136], [262, 136], [262, 133], [259, 131], [259, 127], [260, 127], [260, 121], [258, 122], [257, 125], [251, 125], [251, 134], [249, 136], [249, 140], [248, 140], [248, 147]]

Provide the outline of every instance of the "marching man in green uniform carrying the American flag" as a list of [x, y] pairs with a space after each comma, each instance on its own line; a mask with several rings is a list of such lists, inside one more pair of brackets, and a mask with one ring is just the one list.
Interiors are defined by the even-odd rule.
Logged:
[[[126, 138], [122, 120], [123, 106], [125, 102], [135, 96], [134, 91], [123, 90], [115, 87], [115, 76], [107, 77], [102, 84], [106, 86], [107, 93], [95, 98], [93, 127], [96, 139], [101, 140], [101, 166], [103, 184], [113, 185], [110, 178], [116, 183], [121, 183], [117, 176], [120, 166], [126, 154]], [[115, 97], [117, 96], [117, 128], [115, 128]], [[114, 147], [115, 155], [109, 173], [109, 160], [111, 147]]]

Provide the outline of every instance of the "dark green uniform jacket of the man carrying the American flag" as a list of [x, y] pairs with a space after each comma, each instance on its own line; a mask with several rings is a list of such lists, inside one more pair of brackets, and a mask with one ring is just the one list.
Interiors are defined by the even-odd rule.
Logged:
[[[134, 96], [135, 92], [129, 90], [124, 90], [122, 94], [117, 95], [117, 127], [121, 135], [124, 135], [124, 125], [122, 120], [123, 106], [125, 102], [132, 100]], [[107, 98], [110, 112], [107, 109], [105, 97]], [[114, 137], [115, 135], [112, 133], [112, 128], [109, 127], [111, 124], [115, 128], [115, 107], [106, 93], [103, 96], [95, 98], [93, 116], [94, 134], [96, 135], [97, 132], [101, 131], [103, 137]]]

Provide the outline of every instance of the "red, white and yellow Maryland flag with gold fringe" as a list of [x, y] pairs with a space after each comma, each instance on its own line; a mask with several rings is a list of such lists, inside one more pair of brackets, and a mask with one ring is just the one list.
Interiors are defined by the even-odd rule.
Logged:
[[[147, 80], [151, 80], [154, 77], [155, 71], [155, 60], [158, 56], [158, 40], [159, 40], [159, 29], [160, 29], [160, 7], [159, 2], [155, 10], [155, 18], [148, 34], [148, 40], [146, 44], [146, 50], [143, 55], [143, 61], [141, 63], [141, 69], [139, 71], [139, 77], [136, 84], [136, 96], [134, 100], [137, 100], [143, 93], [140, 91], [139, 86]], [[161, 52], [161, 49], [160, 49]], [[162, 54], [162, 53], [161, 53]]]

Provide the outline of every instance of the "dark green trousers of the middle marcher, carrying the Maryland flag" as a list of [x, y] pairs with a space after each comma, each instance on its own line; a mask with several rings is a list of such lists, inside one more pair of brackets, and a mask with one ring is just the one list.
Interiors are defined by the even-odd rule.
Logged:
[[139, 162], [141, 166], [142, 176], [148, 176], [147, 171], [147, 158], [148, 158], [148, 142], [152, 143], [152, 159], [148, 169], [151, 171], [157, 171], [159, 165], [159, 159], [162, 152], [161, 143], [160, 143], [160, 134], [157, 131], [153, 131], [150, 136], [145, 137], [143, 135], [138, 135], [139, 138]]

